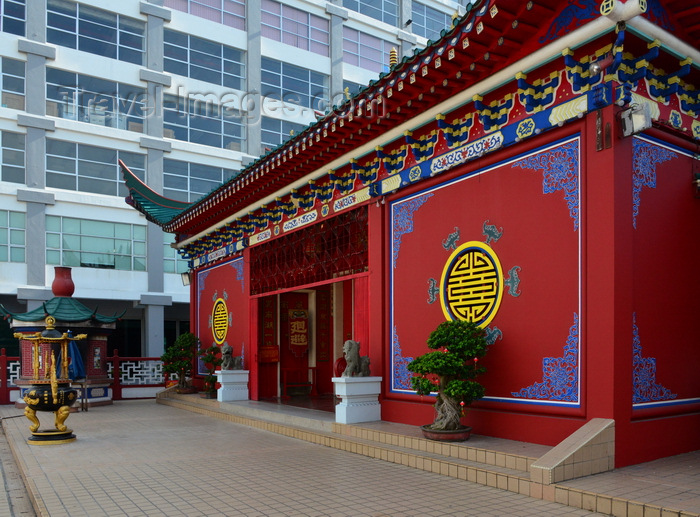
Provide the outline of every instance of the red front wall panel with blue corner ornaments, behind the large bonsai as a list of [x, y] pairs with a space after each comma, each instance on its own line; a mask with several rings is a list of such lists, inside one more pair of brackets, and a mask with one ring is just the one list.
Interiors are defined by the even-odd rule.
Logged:
[[[385, 384], [390, 418], [432, 419], [429, 404], [428, 411], [412, 404], [402, 414], [390, 401], [420, 402], [405, 366], [427, 350], [428, 335], [446, 319], [437, 290], [449, 257], [468, 241], [488, 241], [503, 278], [512, 280], [488, 324], [494, 342], [482, 362], [487, 398], [475, 407], [581, 414], [580, 154], [579, 135], [569, 135], [392, 201]], [[562, 168], [547, 165], [554, 161]], [[479, 425], [476, 432], [486, 431]]]

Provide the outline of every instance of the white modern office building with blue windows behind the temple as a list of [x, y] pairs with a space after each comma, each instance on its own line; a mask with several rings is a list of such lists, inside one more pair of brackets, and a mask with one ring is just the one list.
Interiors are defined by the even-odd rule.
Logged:
[[[449, 0], [2, 0], [0, 303], [127, 310], [121, 355], [189, 328], [172, 235], [124, 203], [118, 160], [191, 202], [436, 39]], [[2, 346], [16, 345], [6, 322]], [[111, 351], [111, 350], [110, 350]]]

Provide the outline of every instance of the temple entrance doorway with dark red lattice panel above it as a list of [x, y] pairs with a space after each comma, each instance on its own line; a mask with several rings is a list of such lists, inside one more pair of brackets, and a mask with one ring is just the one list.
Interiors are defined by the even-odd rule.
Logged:
[[332, 402], [343, 343], [367, 342], [367, 206], [263, 241], [247, 253], [251, 398]]

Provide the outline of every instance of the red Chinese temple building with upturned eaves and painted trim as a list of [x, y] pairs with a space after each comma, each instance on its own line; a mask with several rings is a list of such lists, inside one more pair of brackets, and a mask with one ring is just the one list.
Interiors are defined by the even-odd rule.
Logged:
[[474, 432], [555, 445], [614, 420], [615, 466], [700, 448], [700, 9], [484, 0], [201, 200], [128, 202], [191, 265], [192, 329], [250, 398], [332, 393], [347, 339], [383, 420], [446, 319], [490, 350]]

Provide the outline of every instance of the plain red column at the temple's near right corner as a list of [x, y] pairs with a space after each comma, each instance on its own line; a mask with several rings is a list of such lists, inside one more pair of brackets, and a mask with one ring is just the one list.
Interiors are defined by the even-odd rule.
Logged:
[[[581, 366], [587, 419], [615, 419], [620, 443], [632, 412], [633, 235], [632, 138], [619, 135], [617, 109], [609, 106], [586, 120]], [[610, 146], [604, 136], [608, 128]]]

